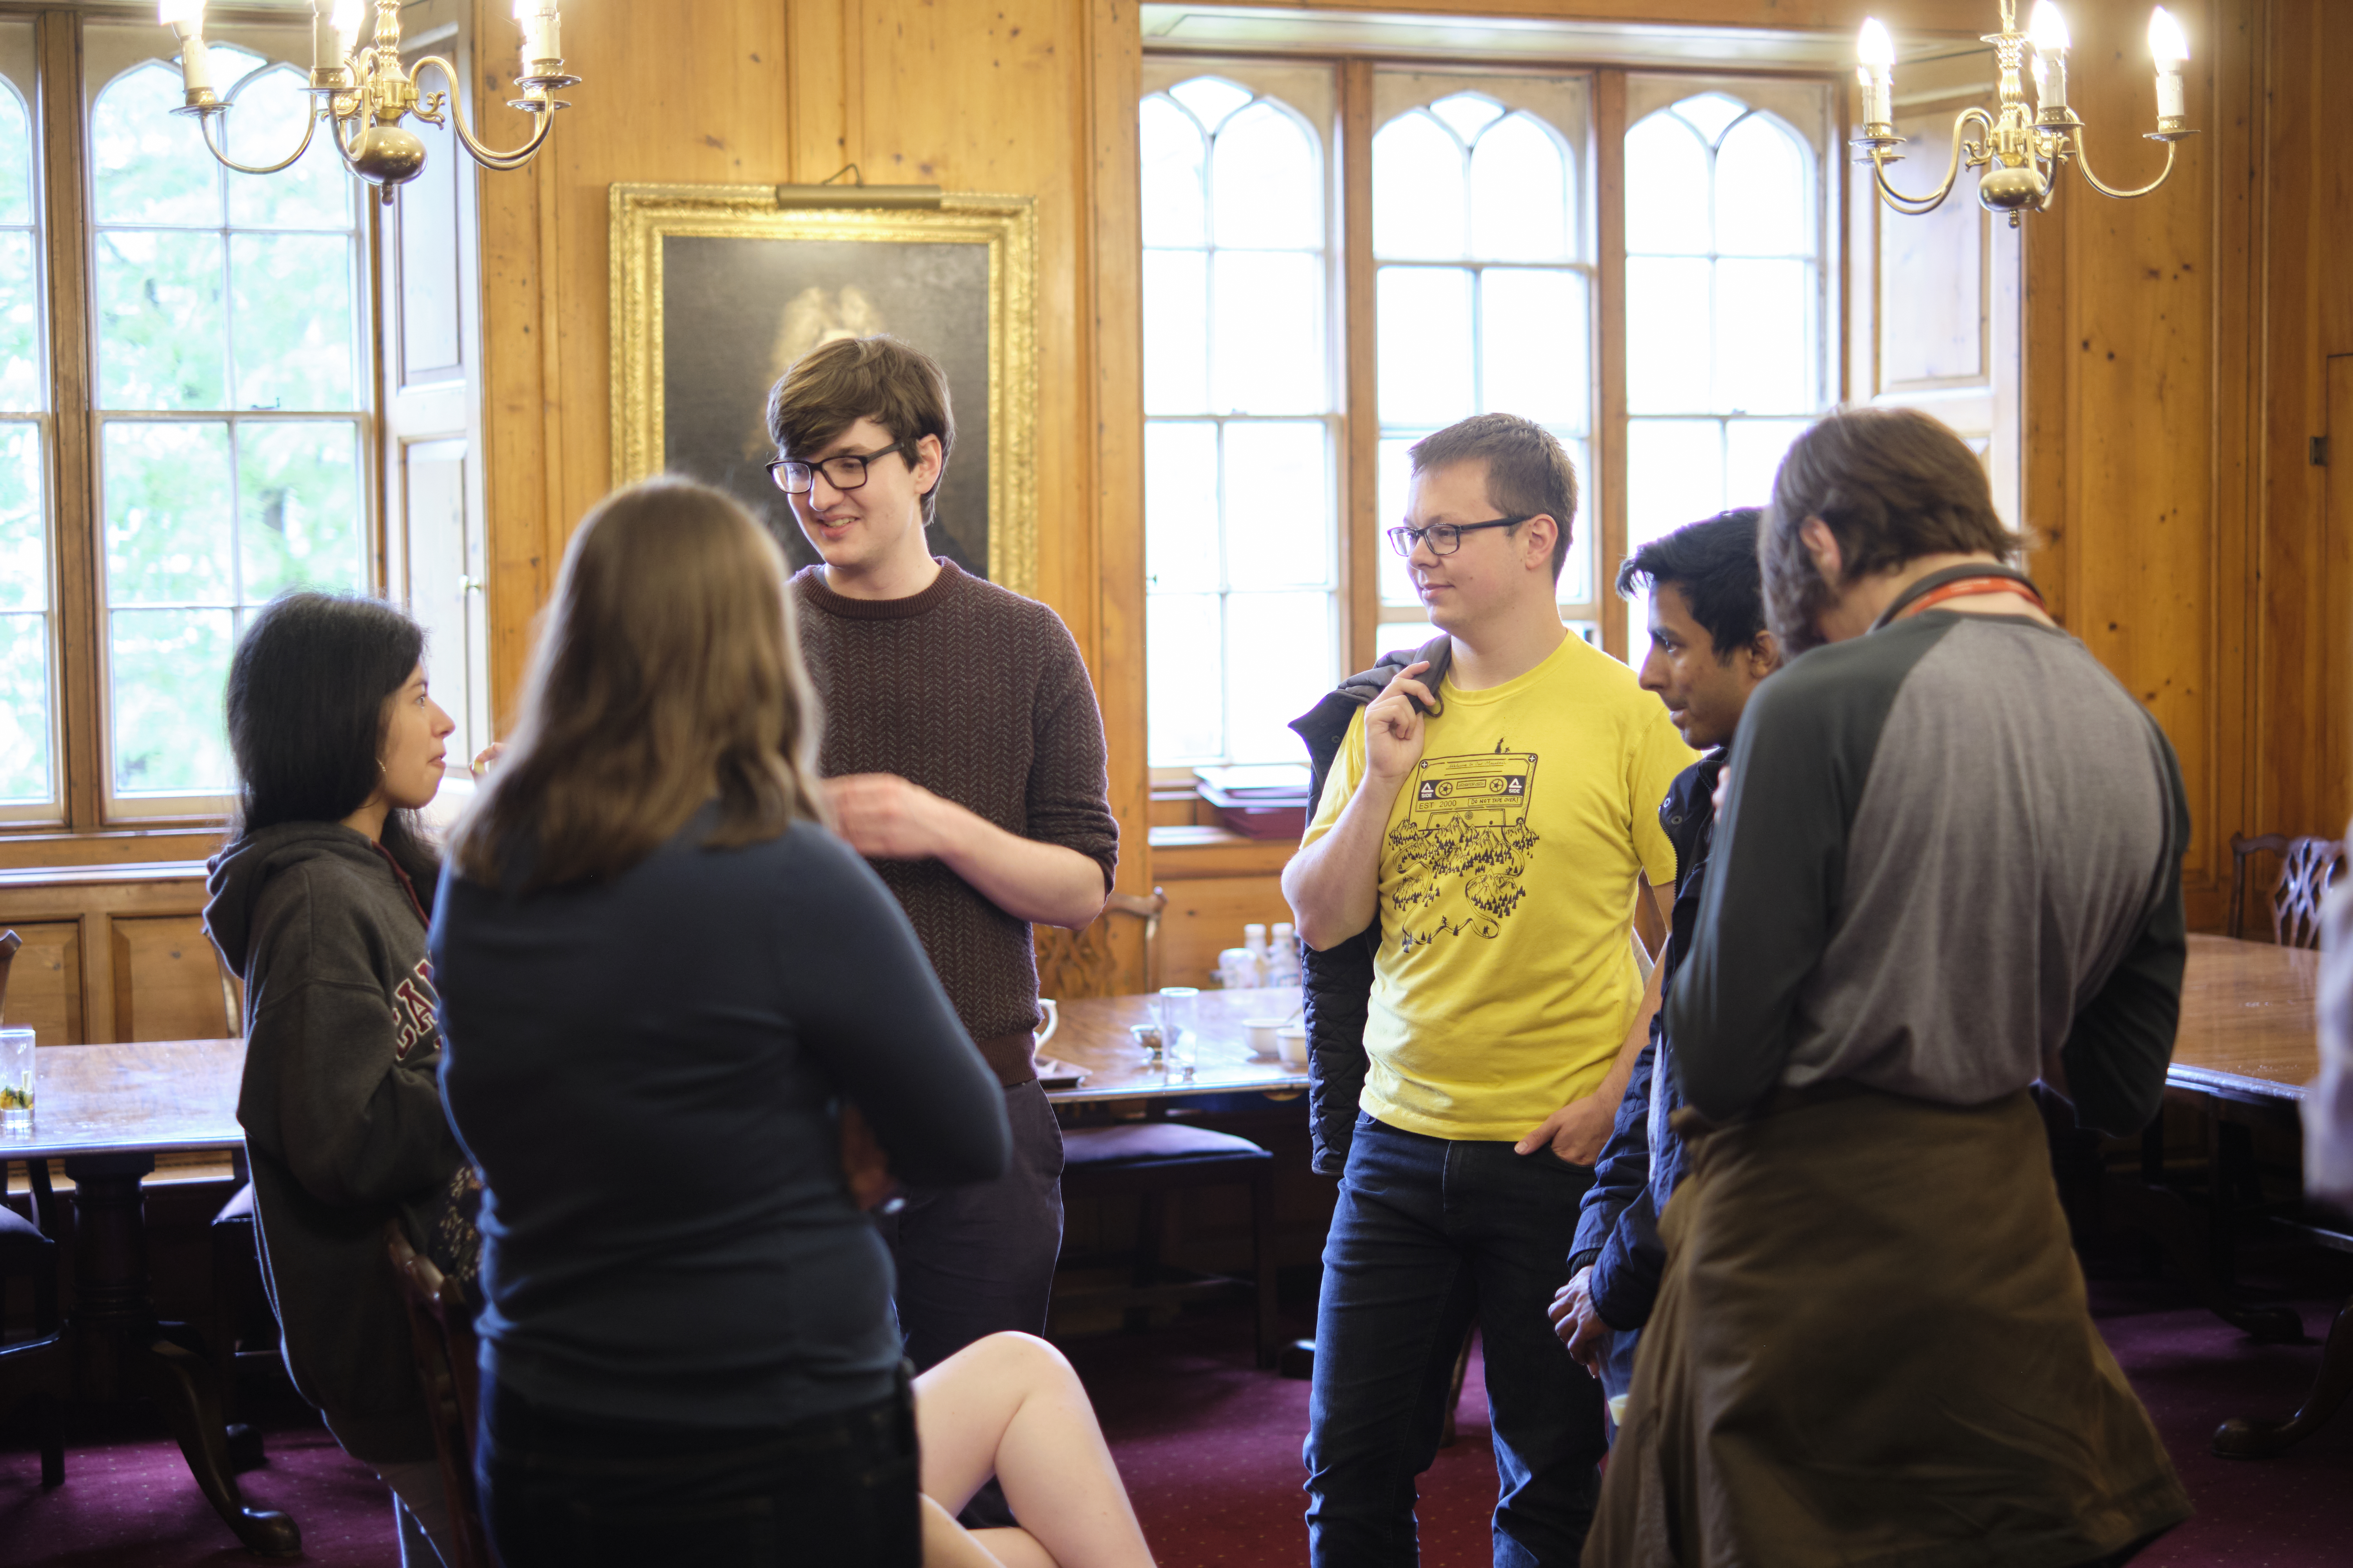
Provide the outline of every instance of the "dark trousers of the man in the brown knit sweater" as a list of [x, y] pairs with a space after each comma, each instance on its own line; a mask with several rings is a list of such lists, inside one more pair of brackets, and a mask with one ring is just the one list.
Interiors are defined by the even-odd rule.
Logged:
[[1061, 1128], [1035, 1079], [1005, 1091], [1014, 1157], [1005, 1175], [969, 1187], [913, 1187], [880, 1220], [899, 1267], [899, 1333], [929, 1371], [1007, 1328], [1045, 1333], [1061, 1258]]

